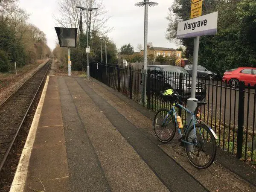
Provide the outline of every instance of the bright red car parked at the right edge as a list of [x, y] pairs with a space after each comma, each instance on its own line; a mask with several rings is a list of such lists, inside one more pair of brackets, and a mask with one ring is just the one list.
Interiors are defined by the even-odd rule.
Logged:
[[254, 67], [238, 67], [236, 69], [228, 70], [224, 73], [222, 81], [227, 81], [232, 87], [239, 85], [239, 81], [244, 81], [247, 86], [254, 86], [256, 84], [256, 68]]

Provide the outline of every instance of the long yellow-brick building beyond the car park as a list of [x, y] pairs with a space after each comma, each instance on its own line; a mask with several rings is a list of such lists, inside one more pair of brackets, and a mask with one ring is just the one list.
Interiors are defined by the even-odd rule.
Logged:
[[[176, 59], [181, 59], [181, 51], [177, 51], [176, 49], [149, 46], [147, 48], [147, 55], [154, 55], [154, 58], [156, 58], [159, 55], [163, 55], [163, 57], [175, 57]], [[144, 50], [141, 50], [140, 54], [143, 55]]]

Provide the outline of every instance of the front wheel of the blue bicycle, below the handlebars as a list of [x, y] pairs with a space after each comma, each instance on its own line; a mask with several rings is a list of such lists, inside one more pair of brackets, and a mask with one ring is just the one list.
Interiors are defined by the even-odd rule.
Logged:
[[176, 131], [175, 119], [172, 114], [168, 115], [168, 113], [168, 109], [160, 109], [153, 120], [154, 134], [163, 143], [171, 141]]

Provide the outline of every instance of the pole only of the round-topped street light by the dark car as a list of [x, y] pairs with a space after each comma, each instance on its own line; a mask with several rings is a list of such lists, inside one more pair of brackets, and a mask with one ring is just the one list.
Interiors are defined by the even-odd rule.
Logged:
[[143, 73], [143, 102], [146, 101], [146, 77], [147, 77], [147, 49], [148, 49], [148, 3], [145, 3], [144, 14], [144, 73]]

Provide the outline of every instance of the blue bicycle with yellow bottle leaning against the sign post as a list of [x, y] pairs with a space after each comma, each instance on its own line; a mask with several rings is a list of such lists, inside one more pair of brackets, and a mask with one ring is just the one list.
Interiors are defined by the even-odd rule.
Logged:
[[[199, 115], [197, 115], [199, 107], [207, 103], [194, 100], [197, 103], [197, 107], [194, 112], [191, 112], [179, 104], [180, 95], [174, 93], [165, 96], [162, 92], [160, 95], [164, 102], [172, 102], [172, 108], [171, 110], [160, 109], [154, 116], [153, 128], [157, 139], [163, 143], [168, 143], [175, 136], [176, 128], [178, 127], [175, 107], [190, 113], [192, 117], [189, 124], [183, 127], [184, 132], [182, 133], [181, 129], [178, 128], [179, 141], [185, 145], [189, 162], [197, 169], [206, 169], [215, 159], [217, 148], [215, 140], [218, 139], [214, 131], [206, 123], [199, 120]], [[200, 157], [202, 158], [200, 159]]]

